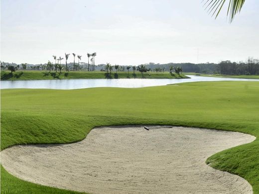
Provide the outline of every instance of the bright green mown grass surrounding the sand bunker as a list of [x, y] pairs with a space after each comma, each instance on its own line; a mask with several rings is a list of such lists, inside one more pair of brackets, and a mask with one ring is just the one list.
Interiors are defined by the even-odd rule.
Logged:
[[[138, 89], [1, 90], [1, 149], [15, 144], [69, 143], [95, 126], [165, 124], [259, 136], [258, 82], [197, 82]], [[237, 174], [259, 194], [259, 140], [211, 156], [207, 163]], [[22, 183], [22, 184], [21, 184]], [[1, 191], [44, 194], [1, 171]], [[62, 192], [57, 189], [51, 192]]]

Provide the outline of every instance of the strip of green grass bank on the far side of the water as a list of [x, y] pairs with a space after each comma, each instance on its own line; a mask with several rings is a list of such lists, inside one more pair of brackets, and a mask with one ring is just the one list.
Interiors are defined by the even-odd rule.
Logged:
[[[133, 78], [142, 78], [140, 72], [112, 72], [110, 76], [107, 72], [48, 72], [48, 71], [17, 71], [12, 74], [10, 71], [1, 71], [1, 80], [54, 80], [54, 79], [133, 79]], [[169, 72], [164, 73], [155, 73], [147, 72], [143, 73], [143, 78], [145, 79], [180, 79], [188, 78], [182, 74], [170, 74]]]

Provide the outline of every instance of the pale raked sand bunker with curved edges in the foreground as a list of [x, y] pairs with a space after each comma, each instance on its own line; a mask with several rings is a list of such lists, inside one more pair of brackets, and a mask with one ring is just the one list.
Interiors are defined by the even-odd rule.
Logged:
[[1, 163], [20, 179], [93, 194], [252, 194], [246, 180], [205, 161], [253, 140], [198, 128], [100, 127], [77, 143], [5, 149]]

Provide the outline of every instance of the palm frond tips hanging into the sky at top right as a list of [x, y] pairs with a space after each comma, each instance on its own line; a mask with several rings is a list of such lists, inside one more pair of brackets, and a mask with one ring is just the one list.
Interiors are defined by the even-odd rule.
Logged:
[[[212, 13], [212, 16], [216, 14], [216, 19], [225, 2], [226, 0], [205, 0], [203, 6], [207, 5], [205, 9], [208, 10], [209, 14]], [[229, 16], [230, 23], [233, 21], [235, 15], [241, 11], [244, 3], [245, 0], [229, 0], [227, 16]]]

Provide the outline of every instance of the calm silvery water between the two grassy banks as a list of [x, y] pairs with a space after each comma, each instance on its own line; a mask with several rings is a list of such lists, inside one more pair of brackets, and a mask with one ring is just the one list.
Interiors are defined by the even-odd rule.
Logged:
[[254, 79], [211, 78], [200, 76], [188, 76], [191, 79], [93, 79], [93, 80], [19, 80], [1, 81], [1, 89], [30, 88], [30, 89], [83, 89], [97, 87], [117, 88], [142, 88], [150, 86], [165, 86], [186, 82], [212, 82], [212, 81], [259, 81]]

